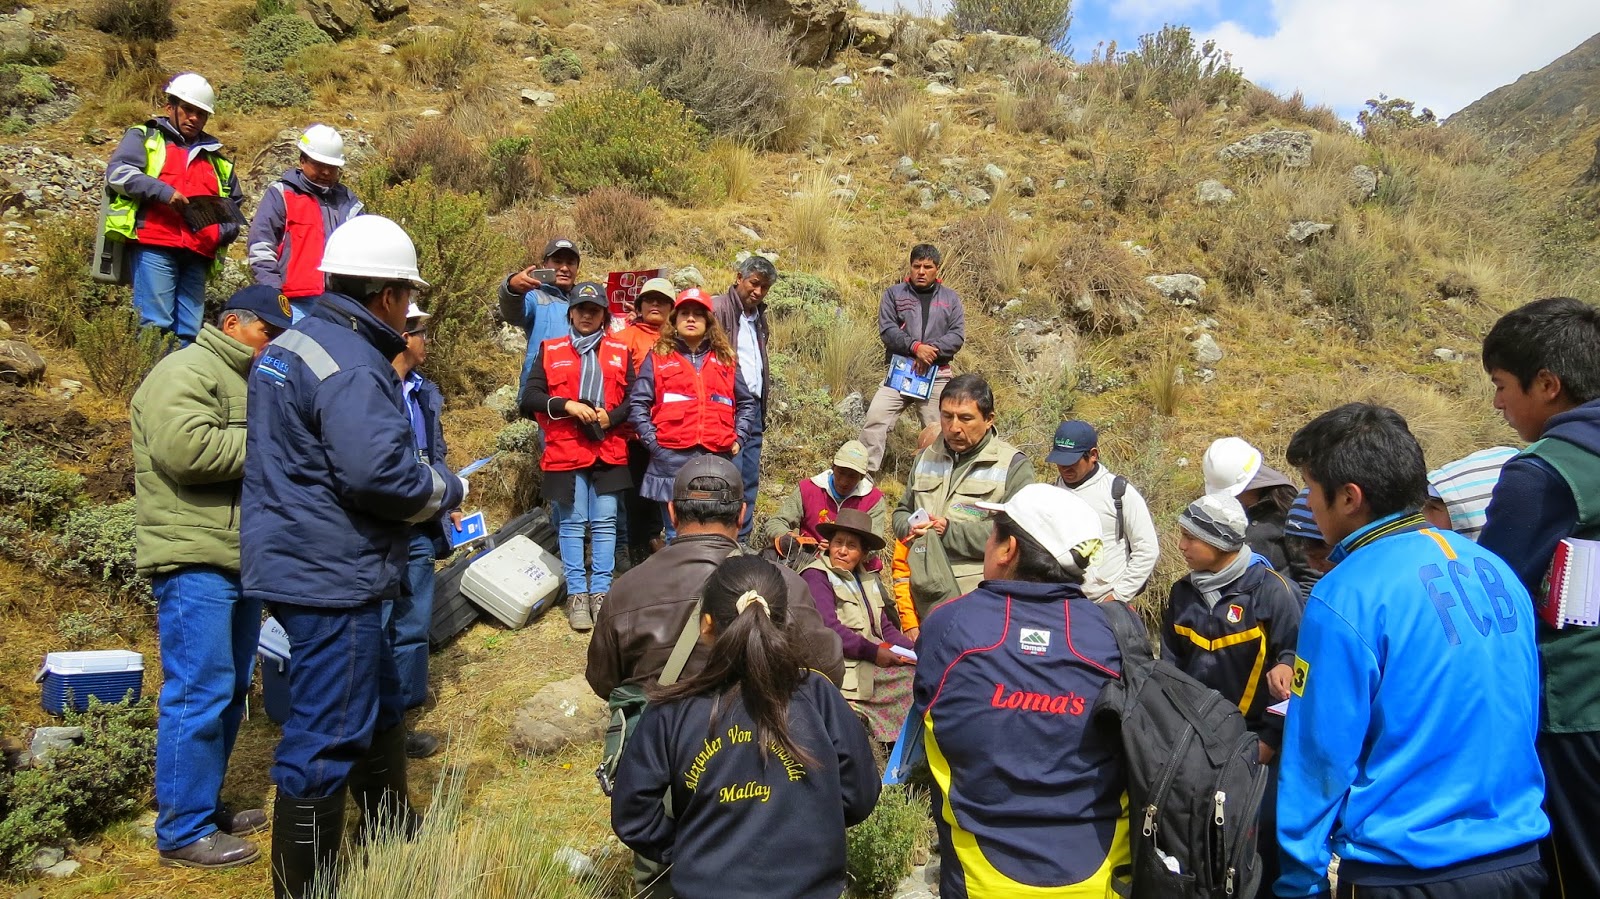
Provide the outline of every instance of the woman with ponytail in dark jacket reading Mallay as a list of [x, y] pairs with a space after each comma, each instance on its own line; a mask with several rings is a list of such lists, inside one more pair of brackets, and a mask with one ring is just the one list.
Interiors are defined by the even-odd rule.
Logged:
[[723, 561], [701, 606], [706, 667], [654, 693], [627, 741], [611, 829], [683, 899], [838, 899], [845, 829], [877, 805], [867, 733], [802, 667], [787, 597], [770, 561]]

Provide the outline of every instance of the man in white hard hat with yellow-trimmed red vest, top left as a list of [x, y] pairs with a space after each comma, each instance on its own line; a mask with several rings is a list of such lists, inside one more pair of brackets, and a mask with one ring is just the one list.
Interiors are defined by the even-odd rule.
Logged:
[[[166, 85], [166, 115], [128, 128], [106, 163], [106, 237], [131, 242], [133, 306], [141, 326], [192, 344], [205, 315], [205, 280], [245, 221], [238, 178], [206, 134], [216, 106], [194, 72]], [[192, 203], [218, 197], [222, 203]]]

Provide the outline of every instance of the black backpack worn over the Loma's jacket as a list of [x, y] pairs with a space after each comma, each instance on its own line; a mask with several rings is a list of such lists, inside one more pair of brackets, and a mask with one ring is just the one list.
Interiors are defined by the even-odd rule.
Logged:
[[1261, 741], [1222, 694], [1150, 656], [1133, 609], [1115, 600], [1101, 608], [1122, 651], [1122, 678], [1101, 689], [1093, 715], [1122, 733], [1133, 899], [1254, 896], [1267, 787]]

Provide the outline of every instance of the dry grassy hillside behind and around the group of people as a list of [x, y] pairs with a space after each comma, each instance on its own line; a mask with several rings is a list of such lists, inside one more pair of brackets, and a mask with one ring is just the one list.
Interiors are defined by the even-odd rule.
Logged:
[[[109, 141], [154, 109], [163, 75], [182, 69], [221, 86], [211, 131], [251, 190], [291, 160], [280, 131], [341, 128], [362, 150], [350, 182], [422, 245], [440, 314], [434, 374], [450, 390], [446, 435], [461, 461], [526, 446], [526, 435], [501, 434], [504, 419], [482, 400], [515, 378], [520, 357], [491, 341], [491, 291], [530, 248], [571, 234], [587, 275], [693, 266], [714, 290], [741, 251], [770, 251], [784, 280], [773, 296], [765, 513], [854, 434], [840, 408], [880, 378], [878, 293], [901, 277], [912, 243], [933, 242], [966, 298], [957, 366], [989, 376], [1002, 434], [1042, 459], [1059, 419], [1086, 418], [1102, 429], [1106, 462], [1150, 499], [1166, 550], [1149, 598], [1157, 608], [1181, 568], [1176, 512], [1198, 493], [1213, 438], [1243, 435], [1282, 464], [1312, 414], [1373, 400], [1406, 414], [1430, 464], [1509, 443], [1478, 366], [1482, 334], [1536, 296], [1600, 296], [1586, 210], [1470, 134], [1358, 136], [1298, 96], [1242, 82], [1176, 32], [1074, 66], [992, 38], [952, 48], [939, 42], [958, 35], [942, 24], [902, 21], [888, 37], [858, 29], [856, 40], [877, 42], [862, 43], [870, 53], [846, 46], [824, 69], [795, 69], [757, 24], [651, 0], [418, 2], [386, 22], [362, 11], [355, 34], [301, 50], [283, 35], [309, 40], [304, 27], [259, 24], [309, 11], [274, 0], [184, 5], [176, 37], [157, 45], [160, 72], [112, 74], [110, 38], [86, 26], [91, 10], [40, 2], [30, 27], [59, 51], [29, 51], [16, 83], [35, 99], [48, 86], [77, 101], [43, 114], [34, 101], [16, 106], [6, 152], [104, 160]], [[874, 72], [882, 53], [896, 58], [888, 75]], [[699, 66], [677, 69], [683, 58]], [[282, 70], [264, 70], [274, 59]], [[1309, 136], [1304, 165], [1221, 154], [1278, 128]], [[1584, 162], [1573, 154], [1549, 165]], [[1358, 166], [1376, 184], [1352, 174]], [[1202, 190], [1205, 181], [1232, 198]], [[592, 194], [597, 184], [630, 194]], [[50, 373], [42, 386], [0, 389], [0, 454], [32, 453], [30, 477], [82, 475], [58, 485], [51, 507], [99, 515], [131, 486], [122, 394], [133, 379], [112, 370], [136, 371], [144, 357], [112, 315], [126, 293], [82, 275], [91, 205], [24, 203], [6, 219], [29, 230], [11, 229], [0, 262], [38, 275], [0, 280], [0, 315]], [[1296, 240], [1296, 222], [1333, 227]], [[242, 277], [237, 246], [234, 258], [218, 296]], [[1144, 280], [1173, 274], [1198, 275], [1203, 291], [1168, 299]], [[1202, 334], [1221, 360], [1197, 362]], [[85, 387], [62, 392], [61, 378]], [[891, 496], [914, 432], [907, 419], [893, 435], [882, 478]], [[474, 480], [474, 499], [504, 520], [536, 486], [533, 469], [530, 456], [502, 456], [498, 477]], [[30, 675], [50, 648], [131, 643], [154, 693], [152, 613], [138, 584], [122, 581], [126, 545], [109, 531], [106, 547], [90, 545], [64, 529], [69, 517], [42, 515], [8, 489], [0, 481], [0, 733], [45, 723]], [[106, 560], [122, 565], [109, 579]], [[597, 749], [530, 760], [506, 742], [517, 702], [578, 672], [582, 646], [547, 617], [522, 632], [480, 624], [435, 656], [440, 701], [422, 726], [462, 736], [466, 816], [515, 805], [557, 845], [603, 843]], [[261, 718], [246, 726], [232, 798], [267, 798], [274, 739]], [[443, 769], [416, 765], [418, 795]], [[136, 822], [98, 846], [83, 877], [46, 883], [46, 894], [256, 896], [267, 877], [264, 864], [226, 875], [157, 869]]]

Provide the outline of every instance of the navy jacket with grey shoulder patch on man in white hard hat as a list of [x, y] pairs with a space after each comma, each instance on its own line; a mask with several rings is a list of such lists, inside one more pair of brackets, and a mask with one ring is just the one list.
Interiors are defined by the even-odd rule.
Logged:
[[362, 304], [323, 294], [250, 374], [240, 576], [269, 603], [354, 608], [400, 592], [410, 523], [461, 502], [416, 456], [390, 360], [405, 349]]

